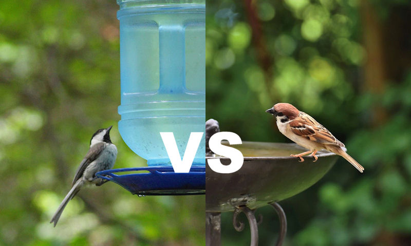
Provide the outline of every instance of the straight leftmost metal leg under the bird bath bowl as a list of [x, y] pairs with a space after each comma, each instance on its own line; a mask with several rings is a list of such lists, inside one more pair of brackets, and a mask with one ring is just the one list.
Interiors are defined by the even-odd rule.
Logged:
[[221, 245], [221, 213], [206, 213], [206, 246]]

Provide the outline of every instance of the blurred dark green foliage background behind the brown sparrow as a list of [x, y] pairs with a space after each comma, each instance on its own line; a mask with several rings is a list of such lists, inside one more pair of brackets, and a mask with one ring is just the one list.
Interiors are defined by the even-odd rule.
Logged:
[[[265, 112], [288, 102], [365, 167], [340, 158], [281, 201], [284, 245], [411, 245], [410, 16], [405, 0], [207, 2], [207, 119], [242, 141], [290, 142]], [[258, 213], [260, 245], [274, 245], [277, 216]], [[223, 214], [222, 245], [249, 238]]]

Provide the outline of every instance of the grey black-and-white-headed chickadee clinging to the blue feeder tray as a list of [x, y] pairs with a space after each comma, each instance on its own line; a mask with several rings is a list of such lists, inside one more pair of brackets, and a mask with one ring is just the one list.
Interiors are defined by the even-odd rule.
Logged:
[[76, 176], [74, 176], [73, 182], [71, 183], [71, 190], [50, 220], [50, 223], [54, 222], [54, 227], [59, 221], [67, 203], [80, 191], [80, 188], [84, 184], [96, 184], [99, 186], [107, 181], [96, 177], [96, 173], [113, 168], [114, 162], [116, 162], [117, 147], [111, 143], [110, 140], [111, 127], [113, 126], [99, 129], [91, 137], [90, 148], [80, 163], [80, 166], [77, 168]]

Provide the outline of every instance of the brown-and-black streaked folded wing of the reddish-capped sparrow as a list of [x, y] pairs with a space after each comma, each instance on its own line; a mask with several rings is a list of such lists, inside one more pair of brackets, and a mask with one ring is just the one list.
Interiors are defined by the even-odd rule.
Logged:
[[345, 147], [342, 142], [336, 139], [330, 131], [327, 130], [327, 128], [318, 123], [305, 112], [300, 111], [300, 115], [295, 118], [295, 120], [290, 122], [290, 127], [294, 134], [305, 137], [308, 140], [322, 144]]

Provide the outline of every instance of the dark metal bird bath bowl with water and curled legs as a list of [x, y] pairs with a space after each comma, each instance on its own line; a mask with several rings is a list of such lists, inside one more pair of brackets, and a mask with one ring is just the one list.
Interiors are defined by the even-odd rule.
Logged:
[[[286, 234], [286, 216], [278, 201], [292, 197], [319, 181], [337, 161], [338, 156], [330, 152], [318, 152], [319, 159], [304, 157], [298, 162], [291, 154], [306, 149], [296, 144], [243, 142], [233, 145], [244, 155], [244, 164], [235, 173], [220, 174], [206, 168], [206, 212], [207, 246], [220, 245], [220, 213], [234, 211], [233, 225], [237, 231], [244, 223], [237, 221], [245, 213], [251, 228], [251, 245], [258, 245], [258, 221], [254, 210], [270, 204], [276, 210], [281, 232], [276, 245], [282, 245]], [[226, 157], [219, 158], [222, 164], [230, 164]]]

